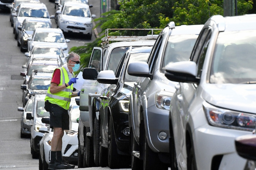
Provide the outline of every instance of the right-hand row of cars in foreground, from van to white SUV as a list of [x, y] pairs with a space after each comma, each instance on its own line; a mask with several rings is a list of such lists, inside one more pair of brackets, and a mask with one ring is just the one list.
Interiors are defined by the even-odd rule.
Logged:
[[255, 20], [170, 22], [150, 47], [94, 47], [76, 99], [78, 167], [255, 168]]

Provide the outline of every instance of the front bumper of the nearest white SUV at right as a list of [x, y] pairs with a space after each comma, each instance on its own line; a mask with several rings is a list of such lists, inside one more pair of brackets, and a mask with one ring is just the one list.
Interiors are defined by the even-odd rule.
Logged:
[[[213, 127], [205, 124], [195, 129], [193, 143], [197, 169], [210, 170], [211, 166], [219, 169], [241, 170], [246, 166], [246, 159], [236, 153], [235, 138], [252, 132]], [[214, 158], [222, 157], [214, 162]]]

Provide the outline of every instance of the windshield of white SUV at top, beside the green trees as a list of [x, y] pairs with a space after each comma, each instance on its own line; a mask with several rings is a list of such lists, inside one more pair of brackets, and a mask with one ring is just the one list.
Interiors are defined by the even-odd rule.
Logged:
[[89, 9], [69, 7], [69, 6], [65, 7], [65, 9], [63, 10], [63, 14], [77, 16], [77, 17], [91, 17]]

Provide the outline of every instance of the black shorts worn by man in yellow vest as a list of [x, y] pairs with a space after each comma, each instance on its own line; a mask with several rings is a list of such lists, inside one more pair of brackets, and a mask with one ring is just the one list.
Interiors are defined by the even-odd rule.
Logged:
[[67, 110], [53, 103], [51, 103], [50, 127], [61, 127], [63, 130], [69, 129], [69, 115]]

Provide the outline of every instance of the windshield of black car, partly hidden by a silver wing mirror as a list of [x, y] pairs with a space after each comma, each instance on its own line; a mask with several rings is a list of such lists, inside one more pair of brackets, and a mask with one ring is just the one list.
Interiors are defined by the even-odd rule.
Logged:
[[[129, 61], [127, 66], [134, 61], [147, 61], [149, 53], [135, 53], [135, 54], [130, 54]], [[135, 82], [137, 80], [137, 76], [131, 76], [128, 74], [127, 69], [125, 70], [125, 75], [124, 75], [124, 82]]]

